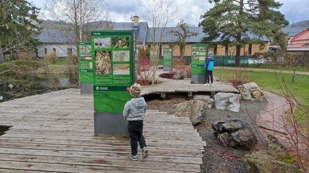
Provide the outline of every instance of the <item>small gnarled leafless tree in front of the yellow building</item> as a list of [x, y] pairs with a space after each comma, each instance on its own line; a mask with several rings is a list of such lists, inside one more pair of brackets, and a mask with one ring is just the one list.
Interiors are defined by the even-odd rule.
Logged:
[[192, 36], [197, 36], [198, 33], [190, 31], [189, 25], [185, 23], [183, 20], [181, 20], [179, 23], [177, 23], [177, 27], [181, 29], [181, 31], [170, 31], [174, 36], [177, 37], [177, 44], [179, 45], [179, 48], [181, 50], [181, 59], [183, 59], [183, 56], [185, 55], [185, 42], [187, 42], [187, 38], [190, 38]]

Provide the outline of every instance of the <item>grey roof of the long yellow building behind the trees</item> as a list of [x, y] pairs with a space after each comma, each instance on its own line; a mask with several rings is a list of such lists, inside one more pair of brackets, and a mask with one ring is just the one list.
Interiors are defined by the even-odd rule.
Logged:
[[[187, 42], [198, 43], [198, 42], [201, 42], [204, 36], [206, 36], [206, 34], [203, 32], [203, 27], [189, 27], [189, 30], [194, 33], [197, 33], [198, 35], [187, 38]], [[166, 27], [165, 29], [157, 28], [157, 31], [156, 31], [157, 34], [156, 34], [155, 41], [156, 42], [159, 41], [161, 37], [161, 32], [162, 32], [163, 34], [161, 37], [161, 42], [165, 42], [165, 43], [176, 42], [177, 37], [174, 36], [174, 34], [172, 34], [171, 31], [181, 31], [181, 29], [179, 27]], [[154, 28], [153, 27], [148, 28], [146, 42], [153, 42], [153, 33], [154, 33]], [[245, 34], [242, 35], [242, 39], [246, 39], [246, 38], [248, 40], [261, 39], [261, 40], [264, 40], [265, 42], [269, 41], [266, 36], [264, 35], [257, 36], [256, 34], [253, 34], [251, 31], [247, 31]], [[233, 39], [230, 39], [230, 40], [233, 41]], [[220, 41], [220, 37], [213, 40], [213, 42], [218, 42], [218, 41]]]

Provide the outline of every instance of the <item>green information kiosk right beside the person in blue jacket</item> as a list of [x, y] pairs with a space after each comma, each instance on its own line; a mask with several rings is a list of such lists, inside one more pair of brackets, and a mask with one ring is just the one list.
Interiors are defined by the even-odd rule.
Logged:
[[192, 45], [191, 83], [205, 83], [204, 63], [208, 53], [207, 44]]

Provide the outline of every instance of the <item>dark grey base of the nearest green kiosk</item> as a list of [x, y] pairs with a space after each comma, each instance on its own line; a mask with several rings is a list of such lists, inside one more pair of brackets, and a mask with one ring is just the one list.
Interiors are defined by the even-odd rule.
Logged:
[[128, 122], [122, 114], [94, 114], [95, 136], [128, 137]]

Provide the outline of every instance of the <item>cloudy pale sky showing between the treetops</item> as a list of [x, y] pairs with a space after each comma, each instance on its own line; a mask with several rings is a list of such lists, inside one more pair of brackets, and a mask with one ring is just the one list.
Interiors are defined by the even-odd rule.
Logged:
[[[43, 7], [48, 0], [32, 0], [39, 8]], [[112, 12], [112, 21], [130, 22], [130, 16], [137, 14], [140, 20], [143, 20], [141, 12], [143, 11], [143, 2], [149, 0], [106, 0], [110, 5]], [[176, 0], [175, 0], [176, 1]], [[309, 20], [309, 0], [279, 0], [284, 3], [280, 11], [286, 16], [286, 19], [292, 23]], [[186, 23], [198, 25], [201, 14], [205, 13], [213, 5], [208, 0], [187, 0], [186, 5], [181, 8], [178, 18], [183, 18]], [[177, 21], [170, 23], [175, 26]]]

